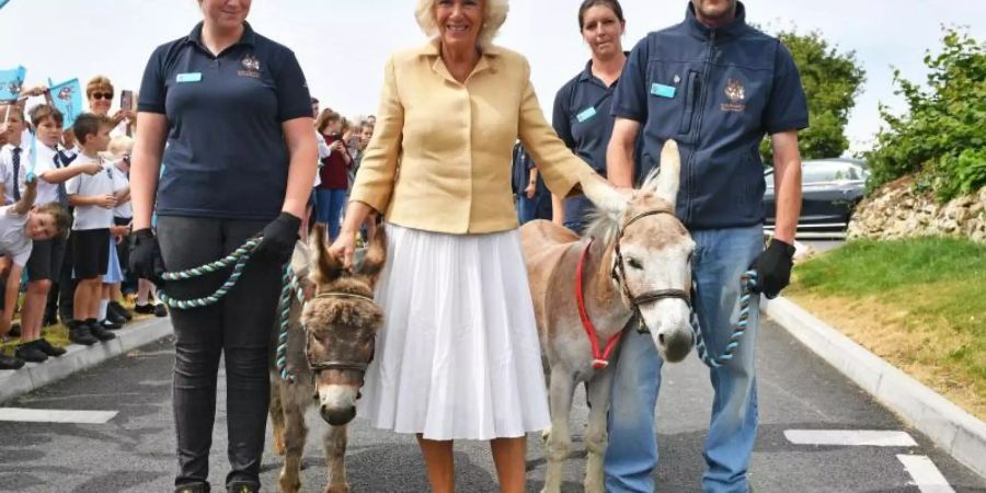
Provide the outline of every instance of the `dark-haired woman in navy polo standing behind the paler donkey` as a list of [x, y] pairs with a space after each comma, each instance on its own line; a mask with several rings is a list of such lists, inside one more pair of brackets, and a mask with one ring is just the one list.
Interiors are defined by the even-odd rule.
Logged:
[[[551, 124], [554, 131], [597, 173], [606, 176], [606, 146], [612, 134], [609, 114], [627, 54], [620, 37], [626, 30], [623, 9], [618, 0], [584, 0], [578, 8], [578, 30], [593, 53], [585, 70], [566, 82], [554, 96]], [[592, 203], [584, 196], [562, 202], [552, 195], [555, 222], [581, 233], [587, 226]]]

